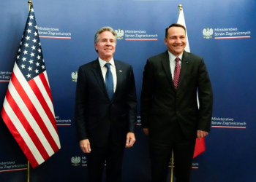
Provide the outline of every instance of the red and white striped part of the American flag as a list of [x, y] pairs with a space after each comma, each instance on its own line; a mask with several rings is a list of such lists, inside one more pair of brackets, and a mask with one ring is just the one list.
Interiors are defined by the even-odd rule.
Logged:
[[1, 116], [32, 167], [61, 149], [46, 71], [27, 82], [15, 63]]

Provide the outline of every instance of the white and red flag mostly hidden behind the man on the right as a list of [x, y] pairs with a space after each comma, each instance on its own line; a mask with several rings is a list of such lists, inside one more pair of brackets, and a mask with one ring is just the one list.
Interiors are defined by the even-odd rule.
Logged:
[[[185, 23], [185, 17], [184, 17], [183, 9], [180, 10], [177, 23], [181, 24], [181, 25], [184, 25], [184, 27], [186, 28], [186, 23]], [[186, 50], [187, 52], [190, 52], [189, 38], [188, 38], [188, 35], [187, 35], [187, 31], [186, 31], [186, 37], [187, 37], [187, 45], [186, 45], [184, 50]], [[199, 107], [198, 97], [197, 97], [197, 105]], [[196, 141], [195, 141], [194, 158], [197, 157], [197, 155], [201, 154], [203, 151], [206, 151], [205, 140], [204, 140], [204, 138], [201, 138], [201, 141], [199, 141], [198, 138], [197, 138]]]

